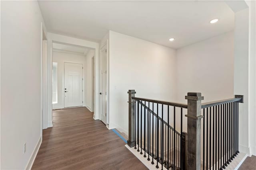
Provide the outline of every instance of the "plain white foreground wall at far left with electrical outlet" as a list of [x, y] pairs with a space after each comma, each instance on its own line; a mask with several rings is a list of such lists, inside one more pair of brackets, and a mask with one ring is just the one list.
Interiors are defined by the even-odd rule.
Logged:
[[41, 137], [41, 22], [37, 1], [1, 1], [1, 169], [25, 169]]

